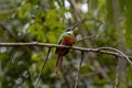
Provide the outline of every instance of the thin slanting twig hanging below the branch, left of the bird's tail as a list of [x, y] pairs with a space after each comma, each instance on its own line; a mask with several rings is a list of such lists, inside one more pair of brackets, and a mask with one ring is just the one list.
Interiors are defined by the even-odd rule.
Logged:
[[37, 74], [36, 81], [35, 81], [35, 88], [37, 88], [38, 79], [40, 79], [41, 74], [42, 74], [42, 70], [44, 69], [44, 66], [45, 66], [45, 64], [46, 64], [46, 61], [47, 61], [48, 55], [50, 55], [50, 52], [51, 52], [51, 47], [48, 47], [47, 55], [46, 55], [46, 57], [45, 57], [45, 59], [44, 59], [44, 62], [43, 62], [43, 65], [42, 65], [42, 68], [41, 68], [41, 70], [40, 70], [40, 73]]

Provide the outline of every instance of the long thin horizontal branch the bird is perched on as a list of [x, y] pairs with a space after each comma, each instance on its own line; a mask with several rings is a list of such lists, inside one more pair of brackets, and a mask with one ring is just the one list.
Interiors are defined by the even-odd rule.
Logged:
[[[57, 45], [57, 44], [50, 44], [50, 43], [38, 43], [38, 42], [29, 42], [29, 43], [0, 43], [0, 46], [45, 46], [45, 47], [70, 47], [66, 45]], [[78, 46], [72, 46], [70, 50], [76, 50], [76, 51], [82, 51], [82, 52], [96, 52], [96, 53], [102, 53], [102, 54], [109, 54], [109, 55], [114, 55], [114, 56], [121, 56], [125, 57], [124, 55], [110, 51], [107, 48], [112, 48], [112, 47], [98, 47], [98, 48], [86, 48], [86, 47], [78, 47]], [[116, 50], [116, 48], [114, 48]], [[124, 53], [123, 53], [124, 54]], [[132, 58], [131, 56], [128, 56], [129, 58]]]

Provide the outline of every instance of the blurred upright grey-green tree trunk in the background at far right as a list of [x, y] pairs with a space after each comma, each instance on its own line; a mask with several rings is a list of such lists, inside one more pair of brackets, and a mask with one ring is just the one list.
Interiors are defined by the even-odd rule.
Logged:
[[[123, 26], [121, 25], [121, 12], [119, 0], [112, 0], [113, 20], [116, 32], [118, 35], [118, 47], [125, 52]], [[127, 88], [127, 61], [123, 57], [118, 57], [118, 88]]]

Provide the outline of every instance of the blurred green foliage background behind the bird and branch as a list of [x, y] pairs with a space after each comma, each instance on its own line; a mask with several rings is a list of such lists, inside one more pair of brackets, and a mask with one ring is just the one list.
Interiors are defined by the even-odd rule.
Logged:
[[[114, 47], [132, 55], [132, 0], [0, 0], [0, 42], [56, 44], [61, 33], [80, 22], [75, 36], [98, 35], [75, 46]], [[35, 88], [47, 47], [0, 46], [0, 88]], [[38, 88], [73, 88], [80, 62], [79, 51], [64, 57], [56, 76], [52, 48], [38, 79]], [[132, 88], [132, 68], [125, 59], [85, 53], [78, 88], [113, 88], [119, 65], [119, 88]]]

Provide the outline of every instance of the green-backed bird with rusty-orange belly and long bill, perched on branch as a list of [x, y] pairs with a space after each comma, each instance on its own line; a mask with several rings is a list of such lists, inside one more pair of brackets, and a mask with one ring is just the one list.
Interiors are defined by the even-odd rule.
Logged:
[[[76, 42], [75, 36], [74, 36], [74, 31], [77, 26], [78, 26], [78, 23], [75, 24], [74, 26], [65, 30], [62, 33], [62, 35], [59, 36], [57, 44], [73, 46], [73, 44], [75, 44], [75, 42]], [[69, 48], [67, 48], [67, 47], [56, 47], [56, 51], [55, 51], [55, 54], [57, 54], [57, 62], [56, 62], [56, 67], [55, 67], [56, 74], [61, 73], [63, 56], [65, 56], [68, 52], [69, 52]]]

